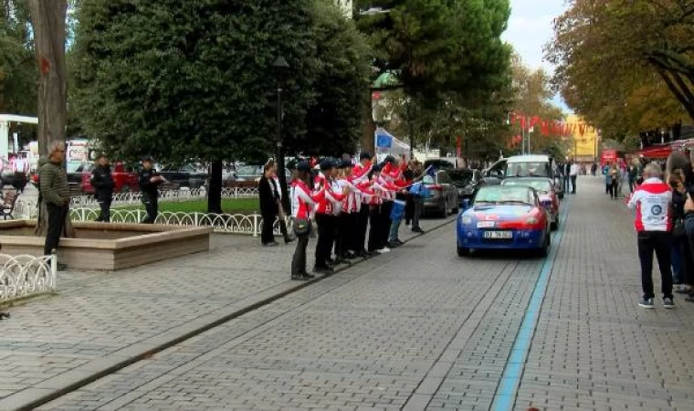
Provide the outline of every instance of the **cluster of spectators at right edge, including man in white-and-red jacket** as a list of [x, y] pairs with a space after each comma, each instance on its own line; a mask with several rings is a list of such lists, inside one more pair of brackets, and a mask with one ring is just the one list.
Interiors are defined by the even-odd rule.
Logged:
[[636, 210], [638, 258], [643, 295], [638, 305], [654, 307], [653, 256], [660, 269], [663, 306], [674, 308], [674, 293], [694, 302], [694, 169], [687, 157], [673, 153], [665, 176], [662, 167], [649, 163], [641, 174], [633, 163], [627, 172], [629, 208]]

